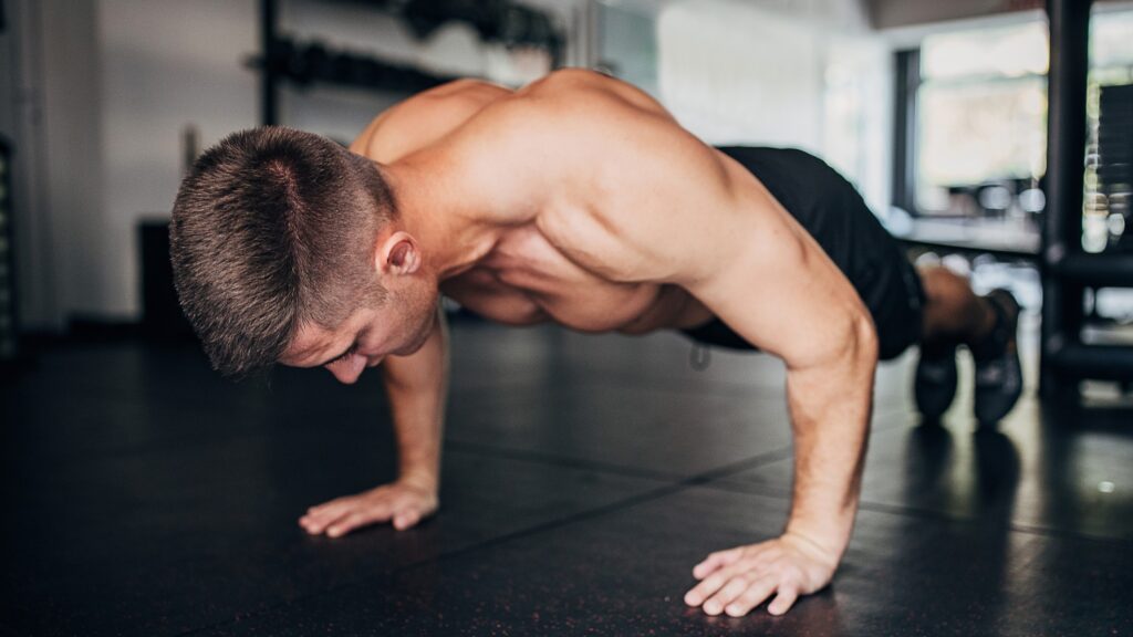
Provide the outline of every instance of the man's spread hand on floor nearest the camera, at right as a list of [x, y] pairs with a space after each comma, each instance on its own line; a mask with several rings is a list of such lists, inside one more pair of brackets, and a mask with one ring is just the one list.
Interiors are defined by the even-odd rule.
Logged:
[[736, 546], [708, 555], [692, 569], [700, 580], [684, 594], [684, 603], [708, 614], [742, 617], [764, 603], [772, 614], [783, 614], [799, 595], [816, 593], [830, 583], [838, 555], [795, 534]]

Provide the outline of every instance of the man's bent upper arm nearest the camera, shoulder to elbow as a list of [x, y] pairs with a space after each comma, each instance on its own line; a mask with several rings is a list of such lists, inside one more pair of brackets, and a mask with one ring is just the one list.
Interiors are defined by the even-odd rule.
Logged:
[[753, 177], [719, 161], [682, 165], [699, 176], [690, 184], [667, 186], [670, 176], [653, 186], [647, 201], [658, 213], [630, 226], [628, 243], [642, 247], [629, 254], [646, 255], [653, 272], [790, 367], [840, 356], [869, 322], [857, 290]]

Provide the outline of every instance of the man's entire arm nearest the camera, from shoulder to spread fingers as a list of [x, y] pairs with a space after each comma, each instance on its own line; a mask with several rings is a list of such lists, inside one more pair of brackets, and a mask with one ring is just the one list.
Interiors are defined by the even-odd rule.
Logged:
[[853, 287], [817, 241], [753, 179], [736, 170], [729, 175], [717, 205], [746, 212], [731, 215], [731, 233], [713, 238], [722, 253], [709, 257], [715, 267], [688, 286], [740, 336], [786, 363], [793, 500], [781, 537], [719, 551], [697, 564], [700, 583], [685, 602], [739, 617], [770, 600], [768, 610], [782, 614], [800, 595], [830, 581], [850, 541], [877, 336]]

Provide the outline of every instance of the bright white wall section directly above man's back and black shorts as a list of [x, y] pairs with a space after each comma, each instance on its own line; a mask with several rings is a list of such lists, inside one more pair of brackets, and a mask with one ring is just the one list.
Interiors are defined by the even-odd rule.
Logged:
[[657, 18], [661, 100], [713, 144], [792, 146], [888, 206], [892, 70], [858, 0], [678, 0]]

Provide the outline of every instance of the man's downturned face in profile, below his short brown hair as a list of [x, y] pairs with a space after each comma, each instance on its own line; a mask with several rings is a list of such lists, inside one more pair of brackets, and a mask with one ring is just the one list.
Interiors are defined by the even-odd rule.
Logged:
[[334, 330], [303, 325], [280, 363], [325, 367], [339, 382], [352, 384], [366, 367], [374, 367], [387, 355], [407, 356], [420, 349], [436, 312], [435, 292], [401, 290], [378, 307], [356, 309]]

